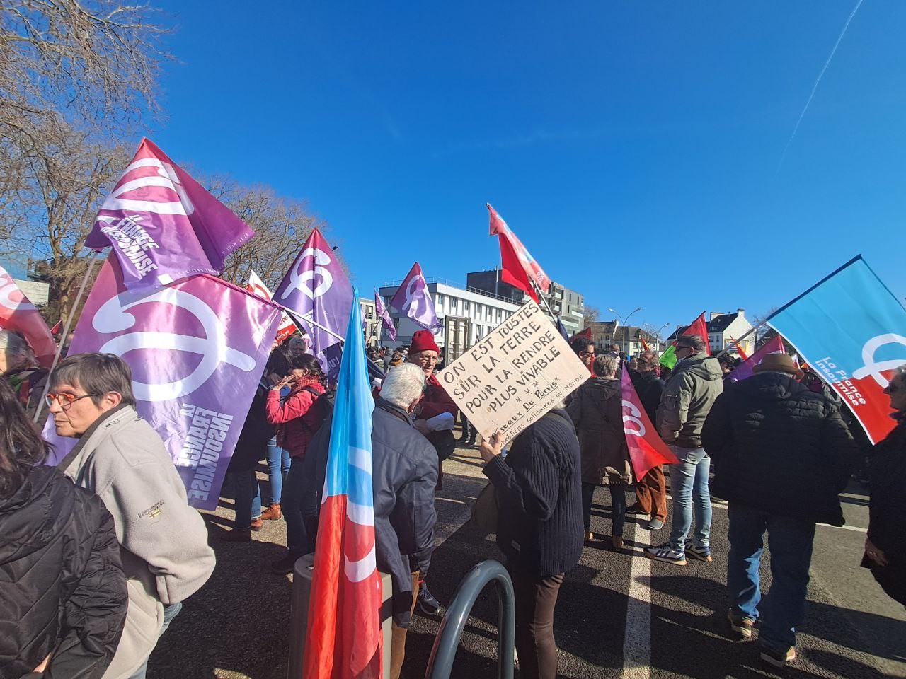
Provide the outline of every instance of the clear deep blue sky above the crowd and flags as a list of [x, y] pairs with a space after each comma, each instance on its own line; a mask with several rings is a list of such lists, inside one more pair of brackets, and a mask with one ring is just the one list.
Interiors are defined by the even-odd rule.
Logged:
[[361, 292], [499, 263], [633, 323], [783, 304], [856, 253], [902, 300], [906, 3], [162, 5], [171, 158], [306, 199]]

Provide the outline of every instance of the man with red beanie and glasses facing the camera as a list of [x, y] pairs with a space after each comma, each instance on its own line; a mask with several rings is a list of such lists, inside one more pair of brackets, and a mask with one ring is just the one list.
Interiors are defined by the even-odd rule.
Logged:
[[[453, 425], [459, 408], [450, 398], [440, 381], [434, 376], [438, 364], [440, 348], [429, 330], [417, 330], [412, 335], [407, 362], [417, 365], [425, 373], [427, 386], [421, 403], [414, 413], [415, 428], [429, 440], [438, 452], [438, 489], [442, 487], [443, 468], [441, 463], [456, 449], [456, 438], [453, 436]], [[392, 369], [392, 368], [391, 368]], [[424, 573], [421, 574], [424, 577]], [[419, 607], [428, 615], [437, 614], [440, 602], [425, 587], [424, 580], [419, 584]]]

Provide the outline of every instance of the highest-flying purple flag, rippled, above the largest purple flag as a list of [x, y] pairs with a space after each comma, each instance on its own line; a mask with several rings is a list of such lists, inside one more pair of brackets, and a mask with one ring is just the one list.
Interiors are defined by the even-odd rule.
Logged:
[[221, 273], [226, 257], [255, 235], [167, 155], [142, 139], [95, 217], [85, 245], [113, 245], [130, 290], [196, 273]]

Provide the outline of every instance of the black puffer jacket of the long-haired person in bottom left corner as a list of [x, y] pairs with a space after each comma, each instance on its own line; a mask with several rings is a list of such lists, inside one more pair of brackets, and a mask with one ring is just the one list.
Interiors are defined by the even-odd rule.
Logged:
[[0, 679], [100, 677], [126, 619], [113, 517], [53, 467], [0, 500]]

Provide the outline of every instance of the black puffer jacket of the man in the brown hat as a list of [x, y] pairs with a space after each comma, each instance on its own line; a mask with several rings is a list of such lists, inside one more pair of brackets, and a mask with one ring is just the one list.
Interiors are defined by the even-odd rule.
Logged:
[[711, 492], [780, 516], [843, 525], [837, 495], [858, 452], [831, 399], [764, 372], [721, 394], [701, 432]]

